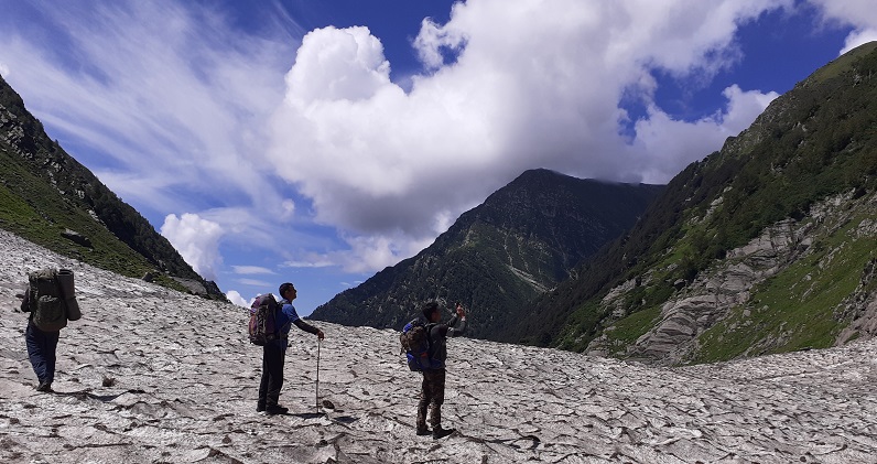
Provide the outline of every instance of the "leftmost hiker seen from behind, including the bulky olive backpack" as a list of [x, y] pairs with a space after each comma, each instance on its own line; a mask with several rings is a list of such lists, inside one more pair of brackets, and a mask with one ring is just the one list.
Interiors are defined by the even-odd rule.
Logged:
[[36, 390], [51, 392], [61, 330], [67, 326], [67, 321], [78, 321], [83, 316], [76, 301], [73, 271], [46, 268], [29, 272], [28, 290], [20, 296], [21, 311], [30, 313], [24, 341], [40, 380]]

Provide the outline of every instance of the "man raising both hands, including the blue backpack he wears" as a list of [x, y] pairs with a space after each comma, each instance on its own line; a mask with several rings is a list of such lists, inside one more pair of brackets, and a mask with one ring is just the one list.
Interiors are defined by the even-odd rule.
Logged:
[[[466, 312], [457, 303], [456, 314], [447, 323], [442, 324], [442, 311], [438, 303], [431, 301], [421, 307], [425, 323], [412, 321], [400, 335], [402, 347], [407, 350], [409, 368], [423, 374], [420, 402], [418, 403], [418, 435], [442, 439], [454, 432], [454, 429], [442, 428], [442, 403], [445, 400], [445, 359], [447, 359], [447, 337], [463, 335], [466, 332]], [[459, 321], [459, 326], [455, 327]], [[419, 335], [416, 332], [423, 332]], [[426, 337], [426, 349], [419, 342]], [[430, 412], [432, 432], [426, 428], [426, 410]]]

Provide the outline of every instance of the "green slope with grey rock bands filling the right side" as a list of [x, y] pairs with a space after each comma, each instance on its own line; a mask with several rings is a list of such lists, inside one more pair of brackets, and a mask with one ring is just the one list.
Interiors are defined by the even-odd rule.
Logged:
[[680, 364], [871, 336], [845, 330], [870, 326], [875, 187], [870, 43], [675, 176], [622, 240], [534, 305], [542, 339]]

